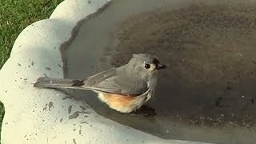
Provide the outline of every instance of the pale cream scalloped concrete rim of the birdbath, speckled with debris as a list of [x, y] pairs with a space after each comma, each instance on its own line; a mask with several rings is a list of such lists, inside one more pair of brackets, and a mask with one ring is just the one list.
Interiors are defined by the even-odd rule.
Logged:
[[78, 21], [106, 2], [66, 0], [49, 19], [35, 22], [19, 34], [0, 71], [0, 100], [6, 110], [2, 144], [188, 143], [134, 130], [99, 116], [85, 102], [66, 98], [57, 90], [33, 87], [39, 76], [63, 77], [58, 48], [70, 38]]

